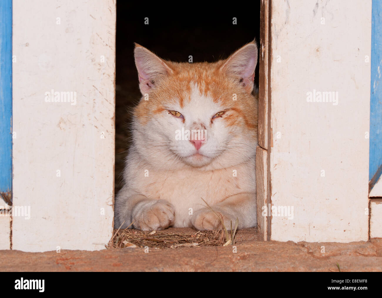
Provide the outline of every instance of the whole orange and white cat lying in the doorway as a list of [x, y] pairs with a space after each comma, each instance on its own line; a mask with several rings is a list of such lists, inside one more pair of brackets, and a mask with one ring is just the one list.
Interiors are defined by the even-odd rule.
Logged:
[[142, 98], [115, 228], [256, 226], [256, 42], [214, 63], [165, 61], [138, 44], [134, 58]]

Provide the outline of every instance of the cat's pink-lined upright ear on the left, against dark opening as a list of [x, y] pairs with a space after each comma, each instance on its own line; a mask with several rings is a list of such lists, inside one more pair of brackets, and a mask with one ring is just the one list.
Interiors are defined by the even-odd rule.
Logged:
[[135, 44], [134, 59], [142, 95], [149, 93], [160, 80], [172, 73], [165, 61], [138, 43]]

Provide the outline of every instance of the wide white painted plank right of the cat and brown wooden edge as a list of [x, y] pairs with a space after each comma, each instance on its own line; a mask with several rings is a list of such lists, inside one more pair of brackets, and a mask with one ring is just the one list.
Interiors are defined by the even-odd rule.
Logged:
[[371, 1], [273, 1], [271, 22], [271, 200], [294, 209], [271, 239], [367, 240]]

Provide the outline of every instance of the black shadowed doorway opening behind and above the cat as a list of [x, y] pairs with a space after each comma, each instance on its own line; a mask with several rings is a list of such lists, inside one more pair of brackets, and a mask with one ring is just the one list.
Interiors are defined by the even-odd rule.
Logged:
[[[117, 2], [116, 196], [124, 184], [123, 170], [128, 149], [134, 141], [130, 133], [133, 108], [142, 97], [134, 62], [134, 43], [144, 46], [166, 61], [189, 62], [189, 56], [192, 56], [194, 63], [226, 59], [254, 39], [259, 48], [260, 2], [236, 12], [190, 10], [178, 15], [158, 14], [155, 10], [142, 10], [136, 4]], [[260, 50], [258, 52], [261, 53]], [[258, 93], [259, 58], [253, 88], [253, 94]], [[256, 229], [243, 233], [252, 235], [253, 231]]]

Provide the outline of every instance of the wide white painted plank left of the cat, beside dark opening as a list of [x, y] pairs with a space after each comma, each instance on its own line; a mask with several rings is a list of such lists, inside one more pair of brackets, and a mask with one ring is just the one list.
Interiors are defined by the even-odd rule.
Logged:
[[[112, 236], [115, 19], [113, 0], [13, 1], [13, 204], [31, 209], [13, 217], [13, 249]], [[45, 102], [51, 90], [76, 104]]]

